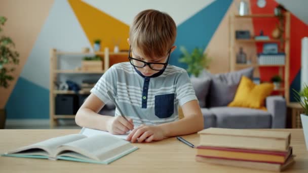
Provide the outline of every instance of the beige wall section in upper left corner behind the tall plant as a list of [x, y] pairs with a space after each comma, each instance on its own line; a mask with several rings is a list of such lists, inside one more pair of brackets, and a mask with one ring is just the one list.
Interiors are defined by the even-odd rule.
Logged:
[[53, 2], [54, 0], [0, 1], [0, 16], [8, 18], [1, 34], [13, 39], [20, 54], [20, 63], [13, 73], [14, 81], [10, 82], [8, 89], [0, 88], [0, 109], [6, 106]]

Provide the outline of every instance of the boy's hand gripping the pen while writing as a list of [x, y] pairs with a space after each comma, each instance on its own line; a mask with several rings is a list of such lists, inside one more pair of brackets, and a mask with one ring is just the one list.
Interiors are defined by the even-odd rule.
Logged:
[[129, 117], [114, 116], [107, 122], [107, 130], [112, 135], [123, 135], [134, 129], [133, 120]]

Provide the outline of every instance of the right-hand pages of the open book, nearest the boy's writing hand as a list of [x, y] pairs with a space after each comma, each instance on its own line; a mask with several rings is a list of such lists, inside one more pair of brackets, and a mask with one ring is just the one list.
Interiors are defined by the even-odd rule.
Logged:
[[134, 146], [125, 140], [115, 138], [109, 134], [100, 134], [64, 144], [57, 150], [57, 155], [68, 156], [70, 151], [73, 151], [96, 161], [104, 161], [117, 155], [117, 152], [121, 151], [121, 149], [129, 150], [130, 148], [134, 148]]

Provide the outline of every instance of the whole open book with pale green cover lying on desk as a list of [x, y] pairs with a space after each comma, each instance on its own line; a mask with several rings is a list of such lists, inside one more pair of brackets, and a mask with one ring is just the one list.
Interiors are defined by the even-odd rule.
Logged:
[[137, 149], [130, 142], [110, 134], [96, 134], [90, 137], [72, 134], [21, 147], [3, 156], [108, 164]]

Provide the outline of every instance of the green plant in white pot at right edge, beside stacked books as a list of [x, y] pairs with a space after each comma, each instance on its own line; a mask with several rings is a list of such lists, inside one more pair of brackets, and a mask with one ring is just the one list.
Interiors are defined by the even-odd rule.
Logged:
[[300, 114], [300, 119], [305, 137], [306, 149], [308, 150], [308, 85], [304, 84], [301, 92], [297, 92], [294, 89], [293, 91], [295, 92], [296, 101], [299, 102], [304, 109], [304, 113]]

